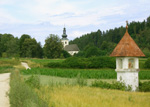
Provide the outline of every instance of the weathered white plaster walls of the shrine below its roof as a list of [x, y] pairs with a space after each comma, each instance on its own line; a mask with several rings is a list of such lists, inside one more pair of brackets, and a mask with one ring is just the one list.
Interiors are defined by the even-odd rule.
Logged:
[[[119, 69], [119, 59], [122, 58], [122, 69]], [[129, 59], [134, 59], [134, 68], [129, 69]], [[130, 85], [132, 91], [136, 91], [139, 86], [138, 72], [139, 59], [136, 57], [118, 57], [116, 58], [117, 81], [124, 82], [126, 86]]]

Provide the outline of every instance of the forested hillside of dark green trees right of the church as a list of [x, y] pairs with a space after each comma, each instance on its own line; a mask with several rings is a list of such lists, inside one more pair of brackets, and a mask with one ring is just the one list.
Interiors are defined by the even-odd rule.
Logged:
[[[70, 44], [77, 44], [81, 50], [78, 56], [110, 55], [115, 46], [125, 34], [126, 28], [98, 30], [89, 34], [77, 37], [70, 41]], [[128, 32], [135, 40], [147, 57], [150, 57], [150, 16], [143, 22], [132, 21], [128, 25]], [[93, 52], [92, 52], [93, 51]]]

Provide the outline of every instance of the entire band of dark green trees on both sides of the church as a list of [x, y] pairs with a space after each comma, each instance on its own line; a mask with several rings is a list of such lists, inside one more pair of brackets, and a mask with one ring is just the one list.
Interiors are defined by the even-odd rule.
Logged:
[[[80, 49], [75, 56], [108, 56], [125, 31], [126, 28], [123, 26], [106, 31], [98, 30], [75, 38], [70, 44], [77, 44]], [[146, 21], [129, 23], [128, 32], [144, 54], [150, 57], [150, 16]], [[27, 34], [20, 38], [12, 34], [0, 34], [0, 57], [66, 58], [70, 57], [70, 54], [63, 50], [60, 38], [54, 34], [45, 39], [43, 47]]]

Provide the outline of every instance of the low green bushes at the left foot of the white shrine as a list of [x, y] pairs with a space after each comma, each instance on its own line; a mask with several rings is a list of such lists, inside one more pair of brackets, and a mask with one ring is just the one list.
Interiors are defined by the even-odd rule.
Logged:
[[122, 91], [130, 91], [131, 87], [126, 86], [125, 83], [122, 82], [113, 82], [112, 84], [104, 82], [104, 81], [94, 81], [92, 83], [92, 87], [100, 87], [100, 88], [106, 88], [106, 89], [117, 89]]

